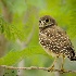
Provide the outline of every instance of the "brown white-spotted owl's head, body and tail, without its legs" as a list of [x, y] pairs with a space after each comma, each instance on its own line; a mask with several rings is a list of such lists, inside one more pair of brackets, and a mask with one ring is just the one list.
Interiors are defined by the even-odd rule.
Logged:
[[48, 54], [67, 56], [71, 61], [76, 61], [75, 51], [68, 36], [49, 15], [39, 20], [39, 42]]

